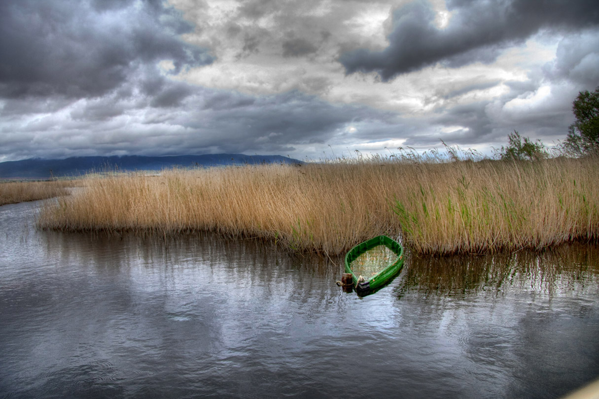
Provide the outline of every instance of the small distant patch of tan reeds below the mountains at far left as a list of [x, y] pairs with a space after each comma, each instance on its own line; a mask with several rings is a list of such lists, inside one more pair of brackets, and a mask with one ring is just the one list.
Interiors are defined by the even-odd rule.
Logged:
[[0, 182], [0, 205], [63, 196], [71, 185], [67, 181]]

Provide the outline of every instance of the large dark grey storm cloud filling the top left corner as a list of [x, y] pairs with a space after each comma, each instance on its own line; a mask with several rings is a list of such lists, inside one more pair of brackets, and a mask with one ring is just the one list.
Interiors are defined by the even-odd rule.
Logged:
[[190, 29], [161, 1], [3, 1], [0, 96], [93, 98], [162, 59], [174, 73], [211, 62], [177, 36]]

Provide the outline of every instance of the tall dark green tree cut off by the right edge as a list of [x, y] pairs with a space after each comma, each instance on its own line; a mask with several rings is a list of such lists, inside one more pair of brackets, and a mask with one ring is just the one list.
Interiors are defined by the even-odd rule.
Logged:
[[568, 127], [564, 149], [579, 156], [599, 152], [599, 87], [594, 92], [579, 92], [572, 103], [576, 121]]

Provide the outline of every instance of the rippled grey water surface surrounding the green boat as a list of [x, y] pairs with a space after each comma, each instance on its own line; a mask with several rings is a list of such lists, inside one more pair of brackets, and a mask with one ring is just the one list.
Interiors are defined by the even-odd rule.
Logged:
[[559, 398], [599, 377], [599, 247], [418, 258], [382, 290], [256, 240], [0, 206], [0, 398]]

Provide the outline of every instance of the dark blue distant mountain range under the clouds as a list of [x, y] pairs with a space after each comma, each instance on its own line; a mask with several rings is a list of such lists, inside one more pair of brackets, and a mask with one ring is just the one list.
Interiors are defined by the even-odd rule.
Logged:
[[0, 179], [50, 179], [52, 177], [81, 176], [89, 172], [119, 170], [158, 171], [171, 167], [210, 167], [227, 165], [254, 165], [259, 163], [302, 163], [300, 160], [279, 155], [204, 154], [170, 157], [113, 156], [71, 157], [66, 159], [31, 158], [0, 162]]

